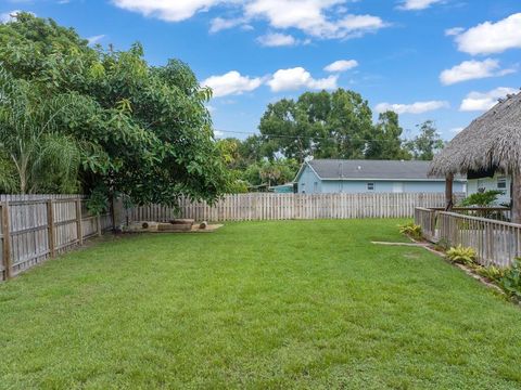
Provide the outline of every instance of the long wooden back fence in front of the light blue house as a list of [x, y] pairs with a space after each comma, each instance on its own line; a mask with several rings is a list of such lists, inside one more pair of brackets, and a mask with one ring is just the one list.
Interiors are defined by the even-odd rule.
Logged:
[[174, 217], [196, 221], [291, 219], [411, 218], [415, 207], [442, 207], [441, 193], [378, 194], [237, 194], [216, 205], [181, 199], [179, 211], [148, 205], [126, 210], [127, 221], [167, 221]]

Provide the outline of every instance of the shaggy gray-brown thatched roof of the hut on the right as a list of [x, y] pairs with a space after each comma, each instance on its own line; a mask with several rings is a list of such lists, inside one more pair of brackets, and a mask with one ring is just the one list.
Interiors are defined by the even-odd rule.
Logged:
[[521, 93], [508, 95], [450, 141], [439, 153], [430, 176], [495, 168], [521, 170]]

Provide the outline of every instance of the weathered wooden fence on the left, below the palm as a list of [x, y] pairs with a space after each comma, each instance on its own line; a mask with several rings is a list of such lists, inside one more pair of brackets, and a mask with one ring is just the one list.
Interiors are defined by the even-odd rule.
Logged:
[[81, 197], [0, 197], [0, 281], [82, 245], [112, 227], [112, 216], [89, 216]]

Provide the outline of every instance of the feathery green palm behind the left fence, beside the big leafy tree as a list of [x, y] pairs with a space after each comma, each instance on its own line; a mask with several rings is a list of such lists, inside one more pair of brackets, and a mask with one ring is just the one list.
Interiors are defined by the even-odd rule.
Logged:
[[0, 66], [0, 190], [21, 194], [78, 190], [81, 151], [55, 121], [71, 99], [67, 94], [48, 99]]

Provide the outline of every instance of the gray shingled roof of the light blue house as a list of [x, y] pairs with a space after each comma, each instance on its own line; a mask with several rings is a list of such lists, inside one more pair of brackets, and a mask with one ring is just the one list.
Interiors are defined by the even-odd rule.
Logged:
[[308, 165], [322, 180], [436, 180], [427, 174], [429, 164], [416, 160], [314, 159], [304, 162], [296, 179]]

